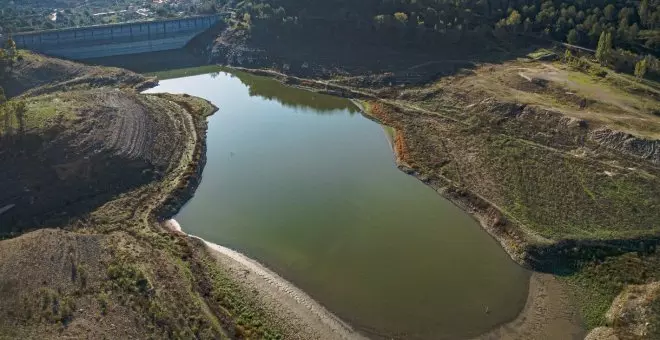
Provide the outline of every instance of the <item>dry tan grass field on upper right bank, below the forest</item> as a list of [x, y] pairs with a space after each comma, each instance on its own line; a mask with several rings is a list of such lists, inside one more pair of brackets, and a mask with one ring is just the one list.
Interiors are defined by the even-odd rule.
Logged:
[[[660, 110], [658, 85], [605, 74], [599, 77], [561, 62], [515, 61], [483, 65], [468, 75], [442, 78], [429, 88], [460, 88], [473, 98], [537, 105], [585, 119], [592, 126], [660, 139], [660, 116], [655, 114]], [[420, 104], [437, 109], [433, 96]]]

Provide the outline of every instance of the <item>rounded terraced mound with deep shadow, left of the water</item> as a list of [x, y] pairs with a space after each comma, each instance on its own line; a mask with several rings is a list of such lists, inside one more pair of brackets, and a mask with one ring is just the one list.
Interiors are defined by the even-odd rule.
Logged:
[[[49, 69], [59, 64], [45, 63], [51, 64]], [[89, 69], [95, 72], [84, 73]], [[0, 202], [11, 209], [0, 215], [0, 232], [16, 233], [89, 213], [118, 193], [162, 178], [182, 156], [186, 135], [169, 133], [190, 129], [180, 116], [182, 108], [132, 88], [99, 87], [96, 74], [112, 78], [115, 71], [75, 65], [59, 71], [61, 77], [76, 76], [87, 89], [58, 89], [68, 88], [70, 81], [34, 88], [13, 101], [24, 104], [20, 116], [6, 110], [0, 129]], [[130, 78], [124, 86], [146, 81], [128, 71], [119, 73]], [[36, 92], [44, 94], [33, 95]]]

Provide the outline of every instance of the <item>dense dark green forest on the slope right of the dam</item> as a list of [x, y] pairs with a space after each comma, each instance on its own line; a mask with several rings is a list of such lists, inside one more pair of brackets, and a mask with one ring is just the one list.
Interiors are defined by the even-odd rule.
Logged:
[[595, 49], [603, 32], [614, 48], [659, 55], [660, 0], [246, 0], [233, 4], [256, 31], [340, 29], [432, 43], [467, 32], [534, 35]]

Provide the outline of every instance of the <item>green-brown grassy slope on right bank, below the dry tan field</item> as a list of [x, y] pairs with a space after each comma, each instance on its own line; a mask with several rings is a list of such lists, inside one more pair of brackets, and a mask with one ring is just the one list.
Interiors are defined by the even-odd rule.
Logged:
[[[660, 231], [658, 166], [589, 141], [589, 133], [604, 123], [595, 111], [597, 99], [595, 109], [583, 110], [594, 116], [584, 128], [571, 127], [562, 114], [545, 111], [561, 110], [575, 117], [570, 110], [575, 107], [556, 98], [557, 91], [532, 89], [525, 93], [536, 99], [527, 101], [520, 95], [524, 91], [512, 89], [509, 79], [501, 78], [520, 67], [513, 63], [478, 69], [474, 75], [442, 79], [399, 94], [397, 102], [455, 119], [401, 115], [408, 120], [409, 126], [402, 128], [415, 143], [410, 152], [420, 171], [440, 174], [486, 197], [524, 227], [549, 239], [626, 238]], [[524, 106], [508, 104], [521, 101], [534, 107], [525, 111]], [[646, 101], [660, 105], [652, 97]], [[564, 105], [553, 105], [556, 102]], [[628, 122], [641, 134], [660, 125], [660, 118], [650, 113], [632, 116], [619, 109], [617, 118], [614, 125]]]

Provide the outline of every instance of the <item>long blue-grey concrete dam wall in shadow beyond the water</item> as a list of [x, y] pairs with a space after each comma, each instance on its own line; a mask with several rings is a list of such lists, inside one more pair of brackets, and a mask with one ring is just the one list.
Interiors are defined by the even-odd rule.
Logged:
[[217, 15], [19, 33], [16, 46], [80, 60], [173, 50], [220, 21]]

